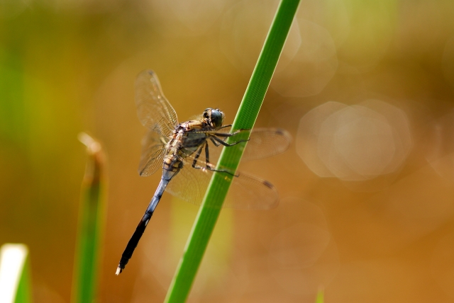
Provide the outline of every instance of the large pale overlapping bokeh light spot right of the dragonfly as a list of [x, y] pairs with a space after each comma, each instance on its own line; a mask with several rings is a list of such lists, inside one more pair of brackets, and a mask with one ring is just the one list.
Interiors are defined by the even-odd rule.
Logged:
[[297, 133], [297, 152], [311, 171], [343, 181], [393, 173], [411, 147], [406, 115], [377, 100], [324, 103], [301, 118]]

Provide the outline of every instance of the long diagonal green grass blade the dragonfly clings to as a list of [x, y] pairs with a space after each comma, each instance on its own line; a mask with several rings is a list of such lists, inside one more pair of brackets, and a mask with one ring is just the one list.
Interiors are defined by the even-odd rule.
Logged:
[[[270, 85], [272, 74], [275, 72], [282, 47], [284, 47], [284, 42], [287, 39], [298, 4], [299, 0], [282, 0], [279, 4], [265, 40], [265, 45], [262, 48], [248, 88], [246, 88], [243, 101], [241, 101], [240, 108], [233, 122], [233, 130], [253, 128], [265, 98], [265, 93]], [[236, 137], [236, 139], [241, 138]], [[243, 149], [235, 147], [225, 148], [221, 153], [218, 164], [236, 171], [242, 154]], [[225, 176], [214, 173], [206, 191], [204, 202], [196, 217], [196, 222], [194, 222], [189, 235], [183, 256], [179, 261], [177, 271], [165, 297], [165, 302], [186, 301], [230, 183], [231, 180], [226, 180]]]

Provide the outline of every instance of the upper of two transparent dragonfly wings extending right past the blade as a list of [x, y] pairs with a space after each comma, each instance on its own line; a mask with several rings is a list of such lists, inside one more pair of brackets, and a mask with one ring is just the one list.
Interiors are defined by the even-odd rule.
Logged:
[[[230, 132], [231, 127], [225, 127], [221, 130], [216, 130], [214, 132]], [[248, 132], [247, 130], [245, 132]], [[236, 139], [236, 135], [233, 136], [233, 140]], [[282, 128], [272, 128], [272, 127], [258, 127], [254, 128], [250, 132], [250, 137], [248, 144], [246, 144], [243, 157], [241, 161], [251, 161], [264, 159], [269, 156], [275, 156], [281, 154], [289, 148], [290, 143], [292, 142], [292, 135], [283, 130]], [[217, 163], [219, 155], [222, 151], [222, 146], [215, 147], [214, 144], [209, 142], [209, 155], [210, 162]], [[245, 146], [245, 143], [238, 144], [240, 147]]]

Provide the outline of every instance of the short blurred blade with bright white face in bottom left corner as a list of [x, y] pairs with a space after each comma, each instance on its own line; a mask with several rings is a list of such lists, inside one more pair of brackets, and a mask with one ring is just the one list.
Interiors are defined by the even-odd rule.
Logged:
[[4, 244], [0, 248], [0, 302], [30, 303], [31, 269], [24, 244]]

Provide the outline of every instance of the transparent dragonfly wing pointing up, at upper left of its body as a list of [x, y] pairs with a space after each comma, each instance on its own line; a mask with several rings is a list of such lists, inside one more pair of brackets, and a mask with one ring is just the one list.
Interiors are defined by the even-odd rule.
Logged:
[[135, 80], [135, 105], [143, 126], [163, 137], [170, 137], [178, 125], [177, 113], [162, 93], [155, 72], [141, 72]]

